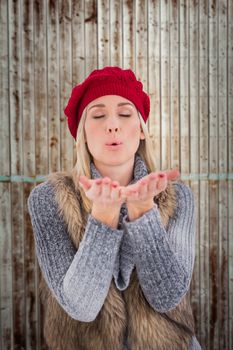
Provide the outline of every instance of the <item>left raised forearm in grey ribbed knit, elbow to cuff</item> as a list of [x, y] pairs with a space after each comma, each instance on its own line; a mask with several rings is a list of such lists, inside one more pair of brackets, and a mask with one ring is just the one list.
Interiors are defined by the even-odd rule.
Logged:
[[99, 313], [112, 280], [122, 234], [89, 218], [85, 239], [63, 282], [66, 300], [72, 303], [77, 319], [90, 322]]

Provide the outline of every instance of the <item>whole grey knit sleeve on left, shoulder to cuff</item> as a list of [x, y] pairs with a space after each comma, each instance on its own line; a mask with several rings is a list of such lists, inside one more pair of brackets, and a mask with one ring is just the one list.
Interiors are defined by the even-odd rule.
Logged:
[[38, 262], [49, 288], [72, 318], [94, 320], [110, 287], [123, 231], [89, 215], [77, 250], [48, 182], [32, 190], [28, 209]]

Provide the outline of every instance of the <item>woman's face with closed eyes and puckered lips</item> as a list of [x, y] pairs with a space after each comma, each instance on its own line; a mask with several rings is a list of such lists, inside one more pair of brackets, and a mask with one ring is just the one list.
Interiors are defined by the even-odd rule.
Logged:
[[95, 164], [129, 162], [140, 140], [145, 139], [136, 107], [117, 95], [102, 96], [89, 103], [84, 131]]

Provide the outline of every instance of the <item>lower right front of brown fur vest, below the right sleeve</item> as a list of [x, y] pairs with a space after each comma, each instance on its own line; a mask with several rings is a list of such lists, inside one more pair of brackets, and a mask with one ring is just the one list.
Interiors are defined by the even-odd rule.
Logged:
[[[184, 329], [183, 323], [175, 323], [166, 314], [159, 313], [150, 307], [139, 285], [136, 270], [131, 275], [129, 287], [124, 291], [124, 299], [128, 314], [130, 349], [188, 349], [192, 334]], [[173, 312], [176, 314], [176, 311]], [[176, 317], [180, 322], [185, 321], [183, 315]]]

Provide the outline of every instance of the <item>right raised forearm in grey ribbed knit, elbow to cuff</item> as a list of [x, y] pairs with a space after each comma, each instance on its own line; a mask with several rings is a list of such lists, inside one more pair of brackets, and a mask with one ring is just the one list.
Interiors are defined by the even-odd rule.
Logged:
[[152, 209], [135, 222], [124, 223], [143, 292], [157, 311], [168, 311], [187, 291], [189, 278], [166, 238], [159, 213]]

